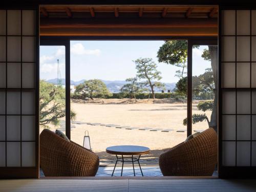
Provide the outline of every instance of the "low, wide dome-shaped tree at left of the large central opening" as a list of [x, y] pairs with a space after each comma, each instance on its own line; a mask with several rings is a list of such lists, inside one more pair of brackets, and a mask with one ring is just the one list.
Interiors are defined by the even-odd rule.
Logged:
[[80, 83], [75, 90], [75, 93], [81, 94], [83, 99], [87, 97], [91, 98], [105, 98], [106, 96], [112, 96], [112, 93], [106, 88], [104, 82], [99, 79], [90, 79]]

